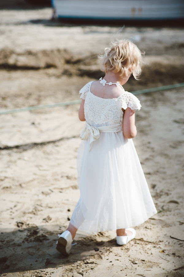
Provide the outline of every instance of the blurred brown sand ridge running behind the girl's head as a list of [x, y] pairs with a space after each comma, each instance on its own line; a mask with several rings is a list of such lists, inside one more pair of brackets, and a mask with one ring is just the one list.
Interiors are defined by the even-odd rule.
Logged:
[[[183, 45], [181, 46], [183, 47]], [[127, 89], [137, 85], [151, 87], [184, 82], [184, 65], [180, 61], [152, 56], [151, 60], [143, 67], [140, 81], [134, 78], [129, 80]], [[171, 58], [170, 58], [171, 60]], [[11, 49], [0, 51], [0, 68], [5, 70], [40, 70], [56, 68], [60, 75], [67, 76], [87, 76], [98, 79], [103, 73], [97, 54], [86, 55], [85, 57], [72, 54], [66, 49], [25, 51], [17, 53]], [[57, 73], [58, 74], [58, 73]]]

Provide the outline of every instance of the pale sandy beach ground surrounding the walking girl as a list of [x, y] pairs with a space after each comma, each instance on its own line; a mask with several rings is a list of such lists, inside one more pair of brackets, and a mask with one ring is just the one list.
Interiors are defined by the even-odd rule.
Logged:
[[[102, 75], [97, 54], [118, 27], [49, 22], [50, 9], [0, 10], [0, 110], [79, 99]], [[126, 28], [146, 52], [140, 81], [125, 89], [184, 82], [182, 29]], [[158, 214], [118, 247], [115, 231], [78, 233], [71, 255], [56, 251], [79, 199], [79, 105], [0, 115], [0, 275], [184, 276], [184, 89], [140, 94], [134, 143]]]

